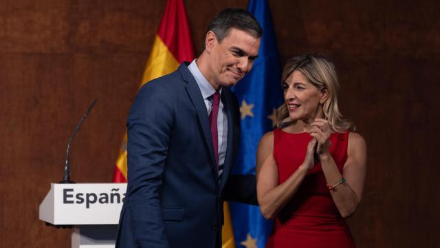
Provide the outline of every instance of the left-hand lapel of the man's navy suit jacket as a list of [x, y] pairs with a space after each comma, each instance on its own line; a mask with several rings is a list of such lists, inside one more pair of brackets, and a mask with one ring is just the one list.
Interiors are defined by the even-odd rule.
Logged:
[[192, 105], [194, 105], [195, 110], [197, 111], [197, 117], [199, 118], [199, 123], [201, 125], [201, 130], [203, 133], [203, 137], [205, 138], [205, 144], [206, 147], [209, 149], [209, 154], [211, 157], [211, 170], [212, 175], [214, 176], [215, 180], [218, 181], [217, 176], [217, 169], [216, 169], [216, 163], [215, 163], [215, 157], [214, 157], [214, 147], [212, 145], [212, 137], [211, 137], [211, 129], [209, 125], [209, 119], [208, 119], [208, 112], [206, 110], [206, 105], [203, 100], [203, 97], [201, 96], [199, 85], [197, 85], [194, 76], [190, 73], [190, 71], [187, 68], [187, 65], [182, 63], [179, 66], [179, 72], [182, 75], [182, 78], [184, 81], [187, 82], [186, 84], [186, 92], [188, 92], [188, 96], [190, 97], [190, 100], [192, 102]]

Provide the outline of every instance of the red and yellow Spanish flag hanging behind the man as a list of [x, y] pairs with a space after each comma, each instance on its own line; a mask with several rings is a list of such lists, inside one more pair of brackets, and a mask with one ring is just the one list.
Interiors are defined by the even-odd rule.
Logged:
[[[192, 41], [186, 20], [184, 3], [181, 0], [166, 1], [166, 8], [162, 21], [159, 25], [151, 54], [146, 61], [144, 76], [140, 82], [140, 87], [157, 79], [159, 76], [170, 74], [177, 70], [183, 61], [195, 59]], [[126, 163], [126, 140], [124, 135], [120, 153], [116, 161], [113, 183], [126, 183], [127, 163]], [[234, 236], [228, 203], [224, 204], [225, 225], [223, 225], [223, 248], [234, 248]]]

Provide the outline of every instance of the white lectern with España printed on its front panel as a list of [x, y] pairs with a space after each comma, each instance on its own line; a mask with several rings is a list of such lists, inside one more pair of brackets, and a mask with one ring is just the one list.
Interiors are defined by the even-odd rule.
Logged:
[[52, 183], [40, 220], [72, 226], [72, 248], [114, 248], [126, 183]]

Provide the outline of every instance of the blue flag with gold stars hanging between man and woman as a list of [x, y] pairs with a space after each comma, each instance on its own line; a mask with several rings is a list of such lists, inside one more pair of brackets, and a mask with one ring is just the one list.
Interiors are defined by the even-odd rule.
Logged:
[[[269, 5], [266, 0], [251, 0], [248, 11], [259, 21], [263, 37], [251, 72], [232, 88], [241, 112], [241, 146], [234, 174], [255, 174], [259, 140], [274, 129], [275, 110], [283, 103], [281, 66]], [[236, 247], [265, 247], [272, 221], [263, 218], [258, 206], [229, 204]]]

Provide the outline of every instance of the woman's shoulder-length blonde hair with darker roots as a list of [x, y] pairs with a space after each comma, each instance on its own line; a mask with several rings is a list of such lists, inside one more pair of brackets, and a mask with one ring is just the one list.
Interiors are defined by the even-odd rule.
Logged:
[[[281, 83], [283, 84], [294, 71], [303, 73], [307, 81], [317, 87], [318, 90], [327, 90], [329, 97], [322, 105], [322, 110], [332, 130], [335, 132], [352, 130], [352, 123], [344, 120], [339, 111], [338, 92], [340, 88], [333, 63], [319, 54], [295, 56], [287, 61], [283, 69]], [[293, 123], [289, 118], [289, 111], [285, 103], [276, 110], [276, 121], [278, 128]]]

